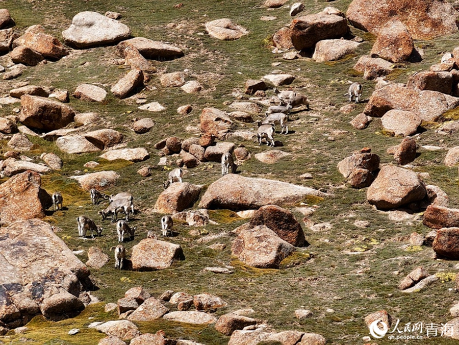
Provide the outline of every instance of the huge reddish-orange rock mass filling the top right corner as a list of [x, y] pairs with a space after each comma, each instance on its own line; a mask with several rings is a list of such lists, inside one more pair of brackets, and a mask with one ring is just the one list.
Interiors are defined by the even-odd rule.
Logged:
[[431, 39], [458, 31], [456, 10], [440, 0], [353, 0], [346, 16], [354, 27], [375, 35], [393, 18], [400, 20], [414, 39]]

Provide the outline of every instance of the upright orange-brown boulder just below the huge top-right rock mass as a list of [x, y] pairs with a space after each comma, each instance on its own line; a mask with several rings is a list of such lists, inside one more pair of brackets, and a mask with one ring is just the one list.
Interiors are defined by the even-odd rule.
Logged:
[[391, 62], [404, 62], [410, 59], [414, 50], [413, 38], [399, 20], [388, 21], [379, 30], [371, 56]]

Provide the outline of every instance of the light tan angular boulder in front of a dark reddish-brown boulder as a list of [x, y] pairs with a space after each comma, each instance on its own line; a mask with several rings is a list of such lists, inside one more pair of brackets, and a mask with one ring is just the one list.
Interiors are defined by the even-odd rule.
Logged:
[[242, 230], [231, 247], [240, 261], [258, 268], [279, 268], [281, 261], [294, 251], [292, 244], [263, 225]]

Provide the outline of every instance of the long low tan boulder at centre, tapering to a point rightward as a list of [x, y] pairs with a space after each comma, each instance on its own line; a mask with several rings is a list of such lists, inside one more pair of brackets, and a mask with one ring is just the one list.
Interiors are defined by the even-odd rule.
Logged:
[[251, 210], [269, 204], [293, 205], [308, 195], [324, 197], [327, 194], [287, 182], [227, 174], [209, 186], [199, 208]]

